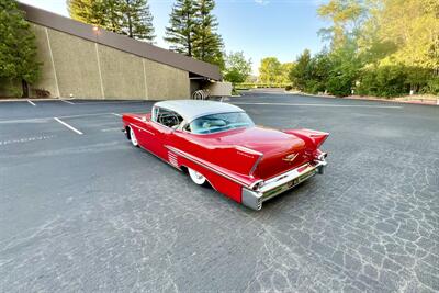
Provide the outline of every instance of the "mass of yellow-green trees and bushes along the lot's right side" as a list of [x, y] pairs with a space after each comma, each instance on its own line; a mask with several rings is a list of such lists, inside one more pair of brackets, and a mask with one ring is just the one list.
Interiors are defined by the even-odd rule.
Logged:
[[439, 1], [329, 0], [318, 13], [331, 46], [297, 58], [290, 79], [302, 91], [439, 92]]

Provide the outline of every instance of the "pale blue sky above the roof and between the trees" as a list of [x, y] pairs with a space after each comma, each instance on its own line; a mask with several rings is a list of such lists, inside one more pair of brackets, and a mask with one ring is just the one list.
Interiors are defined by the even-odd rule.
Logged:
[[[21, 2], [68, 16], [65, 0], [20, 0]], [[319, 52], [324, 43], [317, 35], [328, 26], [317, 15], [325, 0], [216, 0], [218, 33], [225, 50], [244, 52], [251, 58], [252, 71], [258, 74], [260, 60], [278, 57], [281, 63], [293, 61], [305, 48]], [[156, 30], [155, 45], [169, 48], [162, 37], [169, 22], [173, 0], [149, 0]]]

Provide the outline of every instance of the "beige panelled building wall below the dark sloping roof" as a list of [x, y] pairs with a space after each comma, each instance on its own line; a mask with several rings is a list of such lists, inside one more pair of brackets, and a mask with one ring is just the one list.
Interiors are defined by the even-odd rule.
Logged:
[[99, 100], [190, 97], [188, 71], [41, 25], [32, 27], [43, 63], [34, 89], [48, 90], [55, 98]]

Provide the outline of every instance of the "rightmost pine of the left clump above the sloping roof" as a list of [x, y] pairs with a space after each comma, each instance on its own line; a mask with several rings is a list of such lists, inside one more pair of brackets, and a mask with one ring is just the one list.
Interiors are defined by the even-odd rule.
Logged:
[[125, 0], [123, 5], [122, 31], [130, 37], [153, 41], [153, 14], [147, 0]]

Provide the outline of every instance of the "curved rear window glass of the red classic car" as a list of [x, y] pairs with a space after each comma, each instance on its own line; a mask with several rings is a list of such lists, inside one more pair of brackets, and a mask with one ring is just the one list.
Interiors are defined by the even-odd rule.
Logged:
[[185, 129], [194, 134], [209, 134], [254, 125], [254, 122], [246, 113], [236, 112], [212, 114], [195, 119]]

